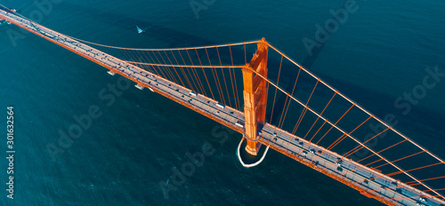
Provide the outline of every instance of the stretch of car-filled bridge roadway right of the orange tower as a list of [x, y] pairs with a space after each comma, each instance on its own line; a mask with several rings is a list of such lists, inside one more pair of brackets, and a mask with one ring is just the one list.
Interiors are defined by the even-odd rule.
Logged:
[[[260, 141], [281, 154], [359, 190], [361, 194], [382, 198], [383, 200], [379, 200], [381, 202], [386, 200], [388, 202], [384, 203], [390, 205], [444, 205], [443, 201], [430, 197], [431, 195], [412, 186], [384, 176], [379, 171], [364, 167], [358, 162], [344, 158], [342, 155], [312, 144], [287, 131], [282, 131], [269, 123], [266, 123], [260, 132]], [[420, 200], [419, 197], [422, 196], [426, 196], [426, 202]], [[394, 200], [389, 202], [392, 198]]]

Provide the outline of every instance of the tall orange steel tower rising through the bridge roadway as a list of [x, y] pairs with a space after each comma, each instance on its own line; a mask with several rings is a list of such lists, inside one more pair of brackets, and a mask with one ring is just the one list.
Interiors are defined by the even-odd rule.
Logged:
[[257, 74], [267, 76], [267, 56], [269, 44], [263, 38], [258, 43], [258, 49], [250, 63], [243, 67], [244, 83], [244, 114], [246, 116], [247, 139], [246, 151], [250, 155], [257, 155], [261, 147], [258, 142], [258, 126], [263, 125], [266, 118], [267, 81]]

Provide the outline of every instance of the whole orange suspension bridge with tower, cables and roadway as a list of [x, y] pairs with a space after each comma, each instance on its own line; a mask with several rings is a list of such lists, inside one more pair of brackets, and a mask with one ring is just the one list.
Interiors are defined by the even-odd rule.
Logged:
[[[387, 205], [445, 205], [445, 162], [439, 156], [264, 39], [122, 48], [63, 35], [0, 7], [1, 20], [243, 134], [238, 155], [244, 166], [255, 166], [271, 148]], [[263, 157], [243, 162], [243, 152]]]

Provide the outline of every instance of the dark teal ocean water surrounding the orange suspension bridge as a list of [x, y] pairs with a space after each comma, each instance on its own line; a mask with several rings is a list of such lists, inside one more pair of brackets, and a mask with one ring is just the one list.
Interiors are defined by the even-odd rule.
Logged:
[[[171, 48], [265, 37], [374, 114], [394, 114], [398, 130], [445, 157], [445, 79], [439, 77], [409, 113], [394, 106], [423, 83], [425, 67], [445, 73], [443, 1], [356, 0], [355, 10], [312, 55], [303, 40], [316, 41], [316, 25], [351, 1], [51, 2], [43, 10], [31, 0], [0, 4], [99, 44]], [[190, 2], [206, 9], [194, 13]], [[39, 10], [41, 15], [34, 12]], [[136, 25], [147, 32], [137, 34]], [[14, 199], [6, 198], [2, 158], [1, 205], [381, 204], [274, 151], [247, 170], [235, 156], [240, 134], [133, 84], [112, 102], [103, 101], [101, 91], [121, 83], [118, 76], [35, 35], [12, 41], [9, 29], [20, 31], [0, 26], [0, 114], [14, 107]], [[53, 161], [46, 146], [58, 144], [61, 132], [77, 123], [73, 116], [88, 114], [92, 106], [101, 116]], [[0, 128], [6, 128], [5, 118]], [[2, 156], [5, 134], [2, 129]], [[186, 154], [206, 142], [214, 155], [166, 198], [161, 186], [173, 181], [172, 168], [181, 168]]]

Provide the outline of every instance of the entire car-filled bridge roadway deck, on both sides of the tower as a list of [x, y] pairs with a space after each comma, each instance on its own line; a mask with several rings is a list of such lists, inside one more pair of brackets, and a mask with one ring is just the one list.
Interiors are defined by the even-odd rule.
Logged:
[[[245, 121], [244, 113], [234, 108], [221, 107], [214, 99], [209, 99], [201, 94], [195, 95], [181, 85], [172, 83], [141, 67], [136, 67], [122, 59], [117, 59], [107, 53], [82, 44], [69, 36], [64, 36], [35, 22], [23, 19], [9, 10], [0, 8], [0, 19], [8, 20], [37, 36], [44, 37], [71, 52], [90, 59], [103, 67], [107, 67], [112, 75], [116, 73], [123, 75], [137, 83], [138, 86], [150, 88], [151, 91], [156, 91], [168, 99], [173, 99], [183, 106], [206, 115], [234, 131], [238, 131], [241, 134], [245, 132], [243, 126]], [[445, 202], [431, 197], [431, 195], [425, 194], [414, 187], [404, 185], [396, 179], [386, 177], [376, 170], [364, 167], [360, 163], [344, 159], [341, 155], [309, 143], [307, 140], [296, 137], [287, 131], [282, 131], [269, 123], [263, 125], [259, 136], [259, 141], [263, 145], [271, 147], [298, 162], [302, 162], [314, 170], [319, 170], [321, 173], [335, 178], [348, 186], [352, 186], [352, 188], [359, 190], [361, 194], [376, 198], [380, 202], [390, 205], [445, 205]], [[340, 165], [336, 163], [338, 160], [341, 160]], [[344, 173], [346, 174], [342, 175]], [[370, 180], [369, 178], [375, 179]], [[365, 181], [367, 179], [369, 180]], [[418, 198], [419, 196], [426, 196], [427, 202], [421, 201]], [[395, 200], [388, 201], [392, 198], [395, 198]]]

